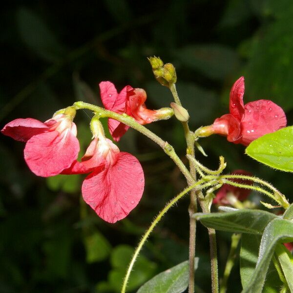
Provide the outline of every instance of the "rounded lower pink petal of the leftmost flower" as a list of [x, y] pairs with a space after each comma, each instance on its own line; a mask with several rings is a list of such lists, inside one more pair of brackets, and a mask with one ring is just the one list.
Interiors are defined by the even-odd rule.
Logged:
[[33, 136], [24, 148], [24, 159], [28, 167], [38, 176], [60, 174], [77, 159], [78, 139], [65, 130], [50, 131]]

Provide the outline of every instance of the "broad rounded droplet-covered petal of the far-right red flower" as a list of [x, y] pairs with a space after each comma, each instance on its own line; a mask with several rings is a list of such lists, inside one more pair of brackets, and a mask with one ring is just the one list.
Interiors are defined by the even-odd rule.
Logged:
[[264, 134], [274, 132], [287, 125], [285, 113], [281, 107], [270, 100], [258, 100], [245, 105], [242, 120], [242, 138], [240, 143], [248, 146], [253, 140]]

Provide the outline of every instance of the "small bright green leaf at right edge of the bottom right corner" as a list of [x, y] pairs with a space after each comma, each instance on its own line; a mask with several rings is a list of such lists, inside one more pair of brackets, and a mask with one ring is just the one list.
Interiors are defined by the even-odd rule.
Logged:
[[276, 254], [282, 267], [290, 292], [293, 292], [293, 256], [284, 245], [276, 246]]

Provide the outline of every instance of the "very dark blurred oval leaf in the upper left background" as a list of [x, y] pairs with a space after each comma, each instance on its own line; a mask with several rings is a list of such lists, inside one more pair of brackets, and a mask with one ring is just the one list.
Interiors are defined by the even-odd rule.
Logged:
[[27, 8], [16, 14], [18, 30], [24, 44], [47, 61], [56, 62], [63, 57], [65, 49], [42, 18]]

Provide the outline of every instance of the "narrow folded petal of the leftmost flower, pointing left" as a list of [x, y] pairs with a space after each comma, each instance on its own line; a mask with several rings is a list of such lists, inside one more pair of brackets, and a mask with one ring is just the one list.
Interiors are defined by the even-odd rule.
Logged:
[[26, 142], [32, 136], [43, 133], [46, 130], [48, 130], [48, 126], [39, 120], [33, 118], [20, 118], [6, 124], [1, 132], [17, 141]]

